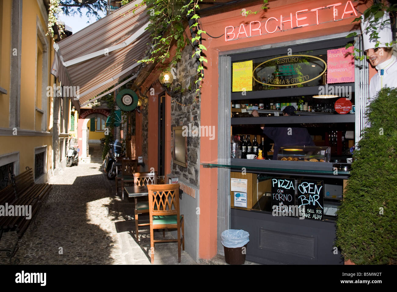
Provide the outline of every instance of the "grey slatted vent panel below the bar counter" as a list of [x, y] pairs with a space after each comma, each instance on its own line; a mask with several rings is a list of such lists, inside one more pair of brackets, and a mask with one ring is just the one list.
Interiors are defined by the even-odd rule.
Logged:
[[314, 237], [309, 236], [260, 228], [258, 247], [295, 257], [316, 258], [316, 240]]

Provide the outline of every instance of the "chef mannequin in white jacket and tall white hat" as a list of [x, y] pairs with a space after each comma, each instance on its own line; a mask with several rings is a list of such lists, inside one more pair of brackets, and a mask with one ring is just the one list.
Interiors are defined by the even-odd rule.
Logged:
[[[393, 37], [391, 33], [389, 14], [385, 12], [376, 24], [376, 27], [379, 28], [378, 39], [371, 38], [371, 31], [366, 30], [366, 27], [369, 25], [371, 20], [372, 19], [361, 22], [365, 54], [372, 67], [375, 67], [378, 71], [370, 81], [369, 102], [376, 99], [376, 95], [380, 89], [384, 87], [397, 87], [397, 60], [396, 57], [393, 56], [393, 48], [391, 46]], [[377, 41], [380, 42], [379, 47], [375, 47]]]

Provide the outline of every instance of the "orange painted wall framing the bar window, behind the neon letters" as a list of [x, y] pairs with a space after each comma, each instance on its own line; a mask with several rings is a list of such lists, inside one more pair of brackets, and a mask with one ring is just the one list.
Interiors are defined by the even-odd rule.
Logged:
[[[347, 1], [341, 1], [342, 6], [338, 6], [338, 15], [336, 20], [341, 18], [345, 4]], [[241, 16], [240, 10], [225, 12], [218, 14], [216, 17], [204, 17], [200, 21], [202, 29], [207, 31], [212, 36], [220, 36], [225, 33], [226, 26], [236, 27], [234, 29], [237, 34], [239, 26], [244, 23], [249, 26], [251, 21], [264, 21], [268, 17], [277, 17], [283, 15], [283, 20], [290, 19], [290, 12], [293, 13], [293, 25], [296, 26], [295, 12], [304, 9], [314, 9], [322, 6], [334, 4], [331, 0], [319, 1], [274, 1], [268, 4], [267, 11], [261, 11], [260, 5], [246, 7], [246, 10], [261, 11], [256, 15], [249, 15], [247, 17]], [[357, 3], [353, 5], [357, 6]], [[218, 124], [218, 57], [219, 52], [250, 48], [254, 46], [261, 46], [264, 44], [280, 43], [285, 41], [293, 41], [298, 39], [308, 39], [312, 37], [319, 37], [322, 35], [329, 35], [335, 33], [345, 33], [353, 29], [351, 22], [355, 15], [344, 15], [341, 21], [333, 21], [333, 8], [322, 10], [320, 15], [320, 22], [324, 19], [329, 19], [327, 23], [320, 23], [316, 25], [316, 13], [311, 15], [299, 15], [298, 17], [307, 16], [305, 21], [300, 21], [303, 24], [307, 21], [312, 25], [300, 27], [297, 29], [288, 29], [290, 22], [285, 23], [286, 31], [278, 31], [273, 34], [256, 36], [251, 38], [238, 39], [234, 41], [225, 41], [225, 36], [220, 38], [212, 38], [204, 35], [203, 43], [207, 51], [205, 56], [208, 60], [206, 70], [204, 71], [204, 83], [201, 90], [201, 124], [202, 125], [217, 125]], [[349, 10], [349, 9], [348, 9]], [[365, 8], [360, 8], [364, 11]], [[270, 28], [269, 28], [270, 30]], [[247, 31], [248, 33], [248, 31]], [[346, 34], [347, 35], [347, 34]], [[217, 132], [217, 129], [216, 129]], [[217, 138], [209, 141], [208, 138], [202, 137], [200, 140], [200, 162], [216, 161], [217, 160]], [[199, 257], [202, 259], [210, 259], [217, 253], [217, 170], [216, 168], [200, 168], [200, 242], [199, 242]]]

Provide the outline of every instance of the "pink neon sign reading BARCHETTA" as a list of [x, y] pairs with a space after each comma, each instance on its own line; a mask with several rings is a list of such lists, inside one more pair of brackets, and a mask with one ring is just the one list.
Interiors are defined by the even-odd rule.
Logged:
[[[342, 3], [335, 3], [335, 4], [330, 4], [327, 6], [322, 6], [322, 7], [316, 7], [313, 9], [310, 9], [310, 12], [315, 12], [316, 13], [316, 25], [319, 25], [321, 23], [320, 21], [320, 16], [319, 15], [319, 11], [325, 8], [331, 8], [333, 9], [333, 21], [336, 21], [336, 17], [338, 15], [338, 10], [337, 10], [337, 6], [341, 6]], [[237, 29], [237, 27], [233, 27], [231, 25], [226, 26], [225, 27], [225, 41], [233, 41], [236, 39], [239, 39], [240, 37], [253, 37], [253, 36], [261, 36], [262, 35], [262, 26], [264, 26], [264, 30], [266, 31], [266, 33], [275, 33], [276, 31], [283, 31], [285, 30], [283, 28], [283, 24], [284, 23], [290, 23], [291, 24], [291, 29], [293, 28], [297, 28], [297, 27], [305, 27], [308, 26], [309, 23], [307, 22], [307, 16], [303, 16], [301, 17], [301, 15], [304, 12], [308, 12], [308, 9], [303, 9], [303, 10], [298, 10], [295, 12], [295, 15], [292, 14], [292, 12], [289, 13], [289, 16], [285, 16], [283, 17], [283, 15], [280, 15], [280, 18], [276, 18], [276, 17], [269, 17], [268, 19], [266, 19], [266, 21], [258, 21], [258, 20], [254, 20], [251, 21], [249, 24], [244, 24], [241, 23], [239, 26], [239, 31], [236, 32], [235, 29]], [[351, 0], [348, 0], [345, 4], [345, 9], [343, 10], [343, 14], [340, 20], [343, 20], [343, 17], [345, 17], [345, 15], [350, 15], [350, 14], [354, 14], [356, 17], [357, 15], [357, 11], [355, 10], [353, 3], [351, 2]], [[284, 19], [289, 17], [289, 19]], [[306, 20], [306, 21], [305, 21]], [[294, 26], [294, 24], [296, 24], [296, 26]], [[312, 23], [314, 25], [314, 23]], [[286, 29], [290, 29], [289, 26], [287, 26]], [[258, 32], [258, 33], [256, 33]]]

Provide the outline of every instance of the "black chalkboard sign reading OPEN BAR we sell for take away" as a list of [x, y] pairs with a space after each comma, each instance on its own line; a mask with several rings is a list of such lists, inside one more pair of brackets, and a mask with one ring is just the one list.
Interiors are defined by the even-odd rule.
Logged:
[[324, 181], [298, 180], [297, 203], [304, 206], [304, 218], [324, 220]]

